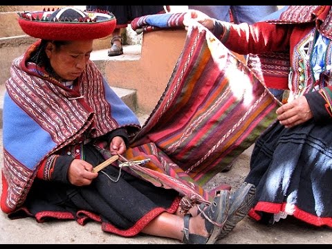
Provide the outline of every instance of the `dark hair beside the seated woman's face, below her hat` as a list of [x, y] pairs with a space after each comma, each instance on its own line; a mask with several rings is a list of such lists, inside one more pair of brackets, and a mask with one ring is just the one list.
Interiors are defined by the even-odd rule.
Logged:
[[[35, 63], [37, 66], [45, 68], [45, 71], [49, 74], [49, 77], [54, 77], [57, 80], [62, 80], [57, 73], [53, 70], [52, 66], [50, 66], [50, 59], [48, 59], [46, 55], [46, 45], [48, 42], [51, 42], [55, 46], [55, 50], [58, 51], [61, 46], [69, 44], [69, 41], [50, 41], [46, 39], [42, 39], [38, 48], [35, 50], [29, 59], [30, 62]], [[39, 71], [38, 71], [39, 72]], [[44, 76], [44, 75], [41, 75]]]

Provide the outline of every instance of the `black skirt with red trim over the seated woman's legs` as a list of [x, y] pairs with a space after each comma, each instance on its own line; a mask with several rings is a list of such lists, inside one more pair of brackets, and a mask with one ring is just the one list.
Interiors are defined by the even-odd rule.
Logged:
[[[94, 166], [104, 161], [91, 145], [84, 145], [84, 154]], [[40, 222], [57, 218], [79, 223], [89, 218], [101, 222], [104, 231], [133, 236], [160, 213], [174, 213], [178, 208], [180, 197], [175, 190], [156, 187], [123, 170], [118, 176], [118, 167], [109, 165], [91, 185], [82, 187], [36, 178], [23, 207], [10, 218], [28, 214]]]

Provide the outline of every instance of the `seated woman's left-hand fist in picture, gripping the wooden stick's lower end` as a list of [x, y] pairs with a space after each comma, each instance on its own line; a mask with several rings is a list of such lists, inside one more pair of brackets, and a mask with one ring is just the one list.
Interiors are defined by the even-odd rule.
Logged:
[[98, 173], [92, 172], [93, 166], [84, 160], [74, 159], [69, 165], [68, 181], [76, 186], [90, 185]]

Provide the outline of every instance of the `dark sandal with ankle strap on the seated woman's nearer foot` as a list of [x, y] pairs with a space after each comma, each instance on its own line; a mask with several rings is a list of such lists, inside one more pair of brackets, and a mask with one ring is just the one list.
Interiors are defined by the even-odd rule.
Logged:
[[[189, 220], [191, 214], [185, 214], [183, 217], [183, 243], [188, 244], [212, 244], [216, 242], [218, 236], [225, 224], [228, 216], [230, 191], [219, 190], [216, 192], [213, 201], [201, 210], [201, 216], [205, 219], [205, 230], [210, 234], [209, 237], [203, 237], [199, 234], [191, 234], [189, 232]], [[200, 205], [199, 209], [202, 207]]]

